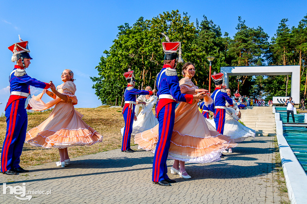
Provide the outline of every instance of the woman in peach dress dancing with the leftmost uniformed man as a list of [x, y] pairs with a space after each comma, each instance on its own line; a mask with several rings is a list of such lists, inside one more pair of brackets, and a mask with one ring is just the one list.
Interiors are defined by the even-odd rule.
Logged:
[[[50, 88], [53, 93], [46, 90], [29, 100], [29, 105], [34, 111], [46, 110], [54, 105], [55, 107], [49, 118], [27, 132], [25, 143], [44, 148], [58, 148], [60, 162], [56, 162], [56, 165], [64, 167], [70, 162], [67, 147], [90, 146], [101, 142], [103, 136], [88, 126], [81, 119], [83, 115], [74, 108], [78, 100], [75, 96], [76, 85], [73, 82], [73, 72], [64, 70], [61, 79], [64, 83], [57, 87], [51, 83]], [[44, 93], [54, 100], [44, 103], [41, 100]]]

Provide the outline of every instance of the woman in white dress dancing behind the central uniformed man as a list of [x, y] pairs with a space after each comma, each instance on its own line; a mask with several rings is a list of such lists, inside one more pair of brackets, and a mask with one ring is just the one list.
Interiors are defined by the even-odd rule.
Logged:
[[[146, 91], [151, 91], [151, 87], [147, 86], [145, 88]], [[157, 103], [157, 96], [150, 95], [140, 95], [136, 99], [137, 105], [135, 106], [135, 115], [137, 115], [137, 120], [133, 122], [132, 125], [132, 133], [131, 135], [135, 135], [140, 132], [144, 132], [145, 130], [149, 130], [150, 128], [155, 127], [159, 122], [157, 118], [153, 115], [152, 108], [154, 104]], [[142, 106], [142, 110], [140, 113], [139, 107]], [[124, 128], [121, 129], [121, 133], [123, 134]]]

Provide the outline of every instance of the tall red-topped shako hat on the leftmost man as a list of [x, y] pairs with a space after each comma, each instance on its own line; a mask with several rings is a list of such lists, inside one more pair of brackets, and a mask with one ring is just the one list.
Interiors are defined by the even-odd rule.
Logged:
[[30, 57], [29, 55], [29, 48], [28, 48], [28, 41], [23, 41], [21, 40], [20, 38], [20, 35], [19, 36], [19, 43], [14, 43], [13, 45], [11, 45], [9, 48], [10, 51], [13, 52], [13, 55], [12, 55], [12, 62], [16, 62], [18, 61], [19, 59], [21, 59], [22, 61], [22, 64], [23, 66], [25, 66], [24, 62], [23, 62], [23, 59], [24, 58], [27, 58], [27, 59], [33, 59], [32, 57]]

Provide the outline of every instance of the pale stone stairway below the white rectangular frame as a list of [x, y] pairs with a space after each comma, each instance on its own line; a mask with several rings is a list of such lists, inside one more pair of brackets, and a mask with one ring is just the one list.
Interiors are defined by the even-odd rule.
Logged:
[[241, 121], [249, 128], [256, 130], [256, 135], [276, 134], [275, 115], [271, 107], [247, 107], [242, 109]]

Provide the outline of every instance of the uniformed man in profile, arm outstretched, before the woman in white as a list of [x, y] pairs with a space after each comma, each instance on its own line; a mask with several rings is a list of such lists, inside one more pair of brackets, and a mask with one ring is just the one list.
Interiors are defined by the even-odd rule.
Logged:
[[136, 116], [134, 114], [134, 108], [136, 104], [136, 95], [152, 95], [156, 92], [155, 89], [153, 91], [145, 91], [134, 89], [135, 85], [135, 77], [133, 71], [129, 71], [124, 73], [124, 76], [127, 80], [127, 88], [125, 90], [125, 106], [122, 109], [122, 114], [125, 120], [124, 133], [122, 135], [122, 152], [135, 152], [135, 150], [130, 148], [130, 139], [132, 133], [132, 124], [133, 120], [136, 120]]

